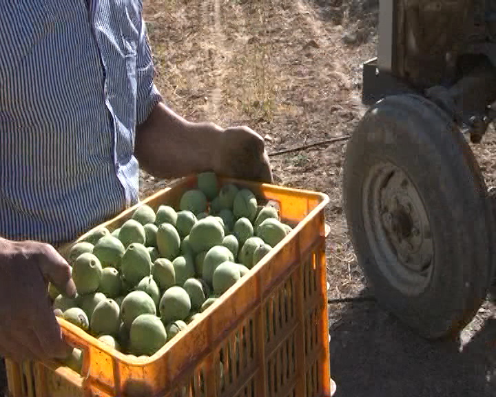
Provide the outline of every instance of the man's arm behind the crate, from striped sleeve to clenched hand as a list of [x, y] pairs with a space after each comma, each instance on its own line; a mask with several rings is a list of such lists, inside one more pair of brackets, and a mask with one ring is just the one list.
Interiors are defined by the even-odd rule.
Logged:
[[161, 102], [144, 21], [138, 45], [134, 154], [140, 166], [161, 179], [209, 170], [272, 182], [264, 141], [256, 132], [247, 127], [224, 129], [214, 123], [191, 123]]

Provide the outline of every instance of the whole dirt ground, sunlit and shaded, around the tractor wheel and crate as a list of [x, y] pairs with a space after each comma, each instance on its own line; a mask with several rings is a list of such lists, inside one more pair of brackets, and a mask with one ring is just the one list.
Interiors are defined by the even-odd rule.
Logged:
[[[363, 61], [375, 56], [377, 1], [145, 0], [156, 83], [192, 121], [245, 124], [265, 137], [276, 183], [329, 195], [331, 371], [339, 397], [496, 396], [496, 316], [489, 301], [461, 343], [427, 343], [375, 305], [347, 237], [341, 205], [346, 141]], [[496, 133], [473, 147], [489, 185]], [[169, 181], [142, 174], [142, 196]]]

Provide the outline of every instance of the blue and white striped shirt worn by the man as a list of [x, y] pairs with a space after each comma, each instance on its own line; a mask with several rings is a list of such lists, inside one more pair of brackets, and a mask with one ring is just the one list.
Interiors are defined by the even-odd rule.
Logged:
[[136, 125], [161, 101], [142, 12], [3, 2], [0, 236], [58, 245], [138, 201]]

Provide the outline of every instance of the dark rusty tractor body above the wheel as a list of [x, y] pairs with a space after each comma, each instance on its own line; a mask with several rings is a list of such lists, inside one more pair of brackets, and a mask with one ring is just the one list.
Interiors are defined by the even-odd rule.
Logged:
[[362, 99], [422, 94], [478, 142], [495, 118], [495, 65], [496, 1], [380, 0], [378, 57], [363, 65]]

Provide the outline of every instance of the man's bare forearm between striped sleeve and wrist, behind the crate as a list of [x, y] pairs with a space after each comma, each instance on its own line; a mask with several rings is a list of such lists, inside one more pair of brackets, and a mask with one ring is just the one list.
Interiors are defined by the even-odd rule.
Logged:
[[136, 130], [136, 159], [149, 174], [164, 179], [211, 170], [222, 129], [205, 125], [158, 103]]

